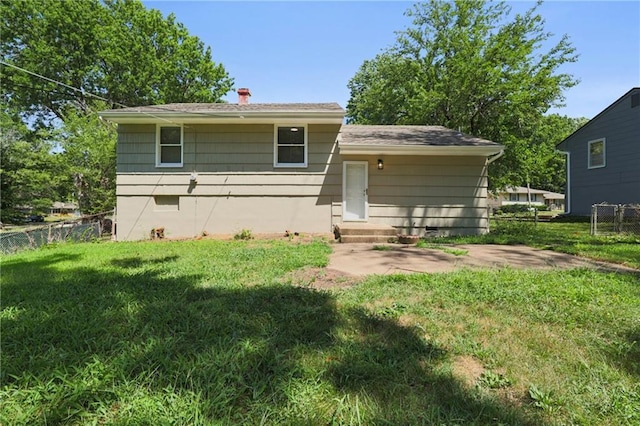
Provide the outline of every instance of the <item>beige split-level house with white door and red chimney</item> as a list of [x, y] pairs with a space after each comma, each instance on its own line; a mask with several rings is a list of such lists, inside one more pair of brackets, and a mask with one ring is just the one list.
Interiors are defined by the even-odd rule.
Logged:
[[118, 124], [117, 240], [331, 233], [335, 225], [488, 228], [487, 168], [503, 147], [438, 126], [343, 125], [335, 103], [169, 104]]

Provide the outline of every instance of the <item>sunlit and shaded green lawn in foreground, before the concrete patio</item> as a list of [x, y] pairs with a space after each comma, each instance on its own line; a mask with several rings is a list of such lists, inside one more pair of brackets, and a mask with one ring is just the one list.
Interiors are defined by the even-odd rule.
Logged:
[[330, 250], [201, 240], [4, 256], [0, 424], [640, 423], [637, 275], [297, 286], [290, 272]]

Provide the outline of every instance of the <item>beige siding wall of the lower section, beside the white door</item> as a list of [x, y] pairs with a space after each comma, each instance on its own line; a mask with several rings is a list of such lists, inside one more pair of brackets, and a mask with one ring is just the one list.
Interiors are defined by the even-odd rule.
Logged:
[[[384, 169], [376, 168], [378, 158]], [[369, 163], [369, 222], [399, 231], [415, 224], [442, 235], [478, 234], [488, 228], [487, 166], [484, 157], [349, 156]], [[341, 220], [341, 203], [332, 209]]]

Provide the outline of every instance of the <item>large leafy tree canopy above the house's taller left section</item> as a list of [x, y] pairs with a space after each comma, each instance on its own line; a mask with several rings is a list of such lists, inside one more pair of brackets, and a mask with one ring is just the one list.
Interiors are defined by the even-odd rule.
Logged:
[[[97, 95], [114, 105], [219, 102], [233, 85], [174, 15], [137, 0], [3, 0], [4, 100], [45, 124]], [[76, 90], [77, 89], [77, 90]]]

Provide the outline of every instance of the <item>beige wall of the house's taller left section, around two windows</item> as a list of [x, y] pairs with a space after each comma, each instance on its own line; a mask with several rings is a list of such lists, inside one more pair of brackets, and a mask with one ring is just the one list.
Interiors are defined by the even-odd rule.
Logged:
[[[340, 167], [330, 166], [339, 125], [309, 125], [309, 166], [273, 167], [274, 126], [184, 127], [184, 167], [155, 165], [155, 128], [121, 125], [126, 155], [117, 176], [117, 238], [149, 238], [164, 227], [168, 237], [255, 233], [327, 233], [332, 201], [340, 199]], [[147, 163], [139, 159], [150, 157]], [[192, 171], [197, 183], [191, 183]], [[158, 211], [155, 196], [178, 196], [179, 211]]]

